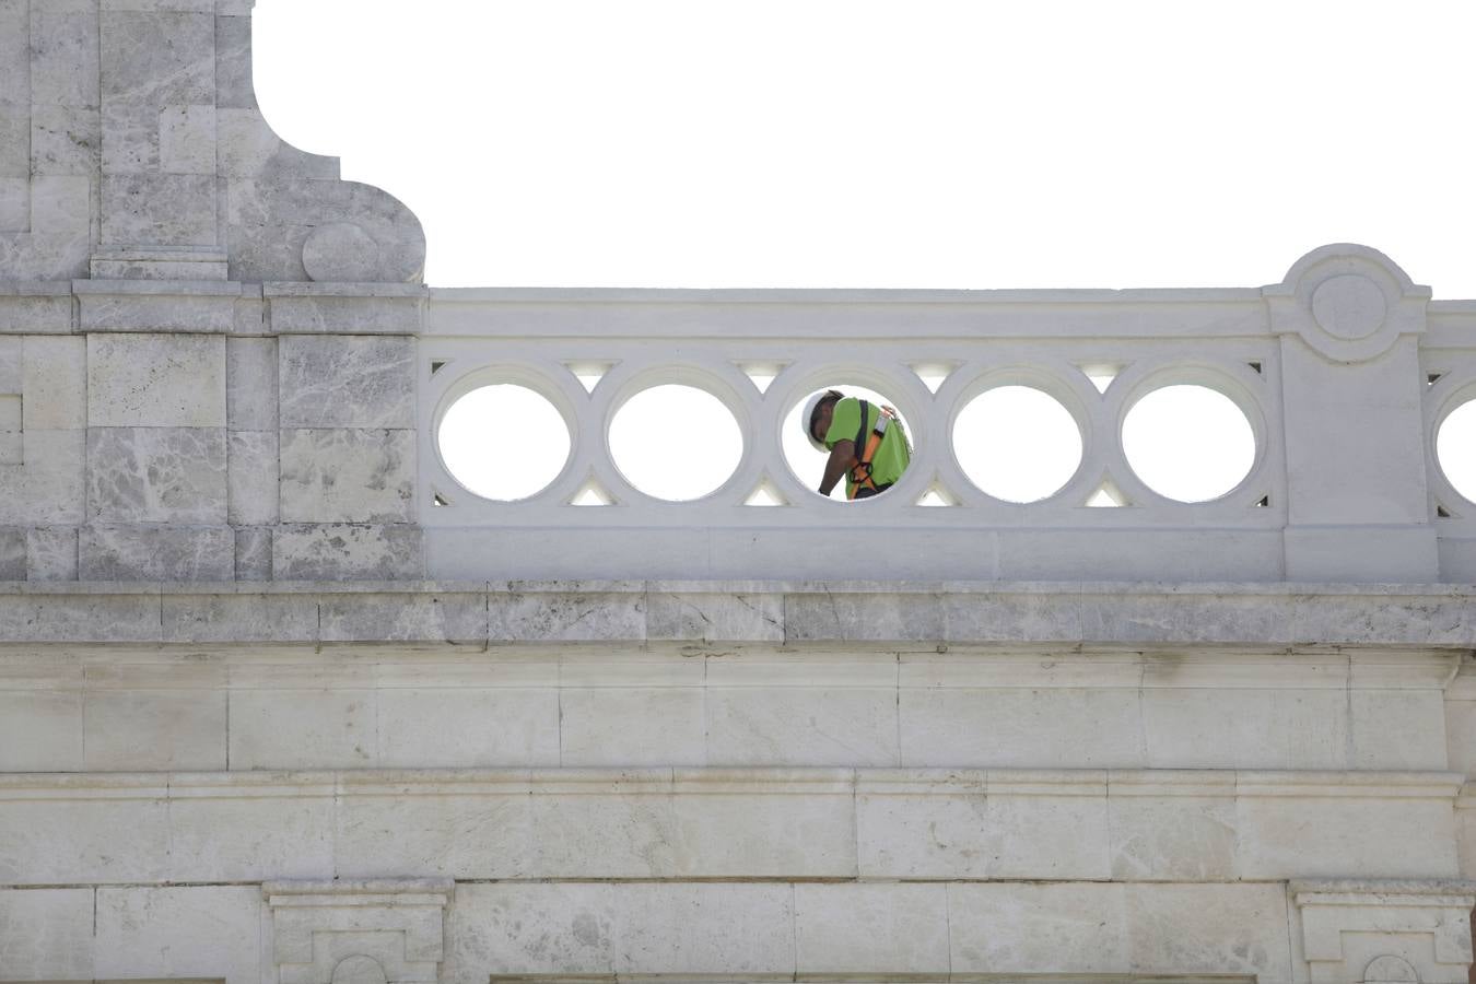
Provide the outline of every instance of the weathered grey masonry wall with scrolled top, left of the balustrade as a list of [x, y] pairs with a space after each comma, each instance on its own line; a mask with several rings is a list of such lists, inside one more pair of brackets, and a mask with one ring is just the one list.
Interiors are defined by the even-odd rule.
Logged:
[[249, 7], [0, 3], [0, 578], [424, 571], [424, 236], [270, 131]]

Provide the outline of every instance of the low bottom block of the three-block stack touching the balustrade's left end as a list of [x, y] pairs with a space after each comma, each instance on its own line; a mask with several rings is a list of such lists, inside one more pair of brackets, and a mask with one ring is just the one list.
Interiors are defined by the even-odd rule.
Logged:
[[279, 581], [413, 580], [424, 577], [421, 530], [376, 525], [283, 525], [272, 533]]

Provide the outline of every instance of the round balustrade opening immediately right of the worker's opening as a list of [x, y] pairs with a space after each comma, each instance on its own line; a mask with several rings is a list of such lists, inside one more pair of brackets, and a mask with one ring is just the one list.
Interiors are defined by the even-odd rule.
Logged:
[[995, 387], [959, 410], [953, 454], [968, 481], [1005, 502], [1061, 491], [1082, 465], [1082, 429], [1061, 403], [1035, 387]]

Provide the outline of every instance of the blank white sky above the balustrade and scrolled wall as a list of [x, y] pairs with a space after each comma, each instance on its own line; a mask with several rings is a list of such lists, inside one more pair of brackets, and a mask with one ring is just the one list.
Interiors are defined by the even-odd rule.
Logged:
[[1476, 297], [1476, 4], [258, 0], [267, 119], [461, 285]]

